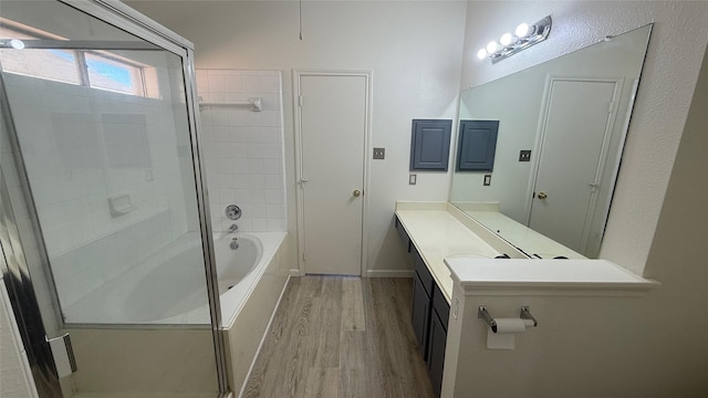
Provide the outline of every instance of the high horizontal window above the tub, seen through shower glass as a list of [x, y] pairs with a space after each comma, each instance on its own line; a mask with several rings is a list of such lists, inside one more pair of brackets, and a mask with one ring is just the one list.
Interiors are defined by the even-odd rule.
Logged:
[[[66, 40], [0, 18], [0, 38]], [[123, 94], [159, 97], [155, 67], [103, 50], [0, 49], [3, 72]]]

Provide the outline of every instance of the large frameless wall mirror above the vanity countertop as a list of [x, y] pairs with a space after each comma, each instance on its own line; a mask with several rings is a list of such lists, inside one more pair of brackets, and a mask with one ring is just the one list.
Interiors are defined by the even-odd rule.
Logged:
[[496, 160], [455, 171], [450, 202], [530, 256], [596, 258], [652, 27], [464, 91], [460, 125], [499, 122]]

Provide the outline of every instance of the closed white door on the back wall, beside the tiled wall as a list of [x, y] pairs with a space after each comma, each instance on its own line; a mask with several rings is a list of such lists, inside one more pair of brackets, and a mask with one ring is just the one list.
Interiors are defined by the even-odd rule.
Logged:
[[366, 74], [296, 73], [301, 270], [362, 274]]

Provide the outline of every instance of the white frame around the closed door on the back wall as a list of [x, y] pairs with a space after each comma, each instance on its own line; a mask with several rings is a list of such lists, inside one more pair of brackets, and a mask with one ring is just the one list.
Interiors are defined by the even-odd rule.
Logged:
[[311, 69], [294, 69], [292, 71], [292, 100], [293, 100], [293, 115], [294, 115], [294, 132], [295, 132], [295, 202], [298, 213], [298, 276], [305, 274], [305, 232], [304, 232], [304, 195], [302, 191], [302, 121], [301, 121], [301, 107], [300, 107], [300, 77], [302, 76], [358, 76], [364, 77], [366, 82], [366, 95], [365, 95], [365, 132], [364, 132], [364, 187], [363, 187], [363, 203], [362, 203], [362, 264], [360, 269], [360, 275], [365, 276], [368, 270], [368, 240], [365, 237], [367, 230], [367, 209], [368, 209], [368, 192], [369, 192], [369, 157], [371, 151], [371, 135], [372, 135], [372, 91], [373, 91], [373, 76], [372, 70], [311, 70]]

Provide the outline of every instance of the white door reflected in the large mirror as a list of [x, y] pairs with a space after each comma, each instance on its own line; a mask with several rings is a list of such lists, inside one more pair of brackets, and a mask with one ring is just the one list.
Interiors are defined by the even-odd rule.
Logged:
[[585, 251], [620, 82], [551, 80], [529, 227]]

